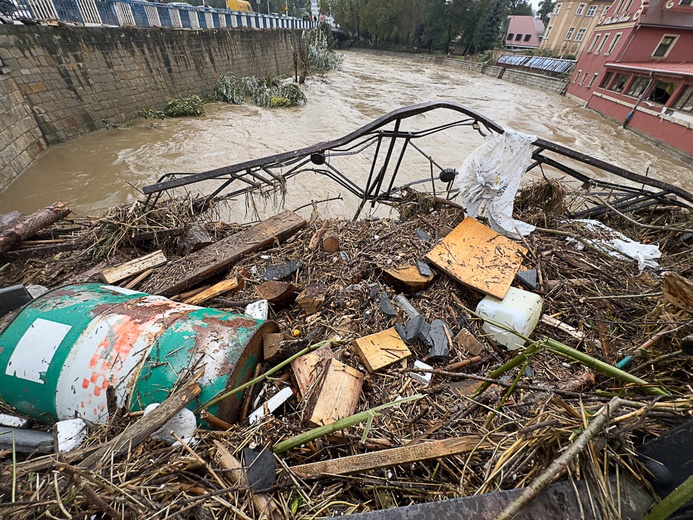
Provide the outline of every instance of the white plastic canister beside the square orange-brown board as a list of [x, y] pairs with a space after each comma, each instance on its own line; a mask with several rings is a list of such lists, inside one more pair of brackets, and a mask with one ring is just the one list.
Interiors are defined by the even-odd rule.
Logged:
[[[529, 336], [539, 322], [542, 303], [541, 296], [510, 287], [502, 300], [486, 296], [477, 305], [476, 312], [482, 319], [502, 323], [524, 336]], [[525, 344], [522, 338], [490, 323], [484, 323], [482, 329], [491, 339], [508, 350], [517, 350]]]

